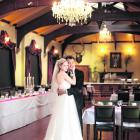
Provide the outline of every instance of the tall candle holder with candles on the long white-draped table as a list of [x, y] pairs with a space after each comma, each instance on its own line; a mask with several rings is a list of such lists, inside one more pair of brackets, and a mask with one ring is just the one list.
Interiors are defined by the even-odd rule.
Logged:
[[32, 94], [34, 92], [34, 77], [30, 75], [25, 77], [25, 93]]

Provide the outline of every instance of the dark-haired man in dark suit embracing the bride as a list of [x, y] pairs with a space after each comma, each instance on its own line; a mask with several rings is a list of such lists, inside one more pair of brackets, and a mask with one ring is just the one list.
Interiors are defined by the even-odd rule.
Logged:
[[[75, 67], [75, 58], [73, 56], [67, 56], [65, 59], [68, 61], [69, 69], [68, 74], [71, 76], [71, 72], [73, 67]], [[83, 130], [82, 126], [82, 109], [84, 107], [83, 101], [83, 83], [84, 83], [84, 73], [78, 69], [75, 69], [75, 76], [76, 76], [76, 85], [72, 85], [70, 89], [68, 89], [69, 95], [74, 95], [77, 112], [81, 124], [81, 129]]]

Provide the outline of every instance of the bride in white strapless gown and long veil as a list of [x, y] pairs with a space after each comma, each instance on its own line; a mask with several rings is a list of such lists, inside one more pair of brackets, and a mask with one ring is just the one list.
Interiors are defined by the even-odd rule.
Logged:
[[74, 97], [67, 94], [67, 89], [76, 84], [76, 78], [75, 74], [72, 78], [69, 77], [67, 70], [66, 59], [57, 60], [52, 77], [52, 91], [57, 95], [58, 89], [65, 92], [56, 98], [44, 140], [83, 140]]

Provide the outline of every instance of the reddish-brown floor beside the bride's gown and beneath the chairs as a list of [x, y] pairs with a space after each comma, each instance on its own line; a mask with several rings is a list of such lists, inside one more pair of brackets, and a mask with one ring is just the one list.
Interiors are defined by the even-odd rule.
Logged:
[[[47, 131], [50, 117], [45, 117], [26, 127], [14, 130], [0, 136], [0, 140], [43, 140]], [[87, 140], [86, 125], [83, 127], [83, 138]], [[93, 140], [93, 127], [90, 126], [89, 140]], [[112, 133], [103, 133], [102, 140], [112, 140]], [[132, 133], [129, 140], [140, 140], [139, 133]]]

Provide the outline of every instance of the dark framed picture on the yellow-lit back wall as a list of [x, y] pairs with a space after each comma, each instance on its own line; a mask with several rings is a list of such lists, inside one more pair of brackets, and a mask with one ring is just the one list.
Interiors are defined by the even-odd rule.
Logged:
[[110, 53], [110, 68], [121, 68], [121, 53], [120, 52], [111, 52]]

